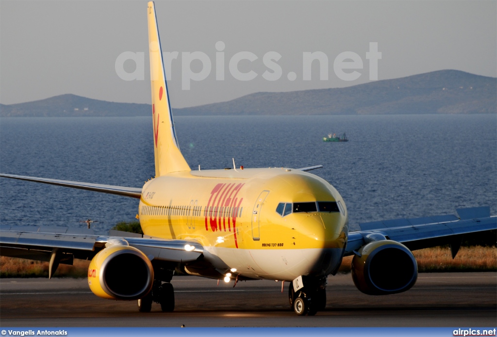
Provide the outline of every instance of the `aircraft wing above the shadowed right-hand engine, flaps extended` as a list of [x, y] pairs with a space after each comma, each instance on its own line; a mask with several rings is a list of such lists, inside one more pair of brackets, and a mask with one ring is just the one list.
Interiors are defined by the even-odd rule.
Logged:
[[455, 257], [464, 234], [497, 229], [497, 216], [490, 207], [457, 209], [456, 215], [436, 215], [414, 219], [395, 219], [359, 224], [360, 231], [350, 232], [345, 255], [352, 255], [363, 245], [378, 240], [393, 240], [410, 250], [450, 244]]

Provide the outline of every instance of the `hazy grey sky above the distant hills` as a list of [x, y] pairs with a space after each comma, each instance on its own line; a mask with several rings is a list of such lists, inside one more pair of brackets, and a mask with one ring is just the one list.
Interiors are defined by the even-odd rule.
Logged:
[[[1, 0], [0, 103], [65, 93], [149, 103], [146, 10], [146, 0]], [[156, 11], [163, 52], [178, 52], [168, 75], [173, 107], [226, 101], [258, 91], [365, 83], [370, 81], [371, 60], [366, 58], [370, 43], [377, 43], [381, 53], [377, 63], [380, 80], [440, 69], [497, 76], [495, 0], [165, 0], [156, 1]], [[224, 56], [224, 67], [216, 63], [218, 41], [224, 43], [219, 54]], [[118, 76], [116, 60], [125, 52], [144, 53], [145, 63], [139, 66], [144, 69], [143, 80], [126, 81]], [[201, 52], [189, 54], [190, 58], [207, 57], [210, 72], [202, 72], [205, 60], [188, 62], [188, 52]], [[311, 80], [304, 80], [304, 53], [309, 52], [328, 58], [327, 79], [320, 79], [316, 60]], [[276, 61], [274, 55], [278, 54], [281, 58]], [[257, 59], [234, 62], [240, 55]], [[273, 60], [264, 60], [264, 55]], [[335, 71], [340, 55], [355, 55], [355, 69], [341, 71], [357, 71], [357, 79], [344, 80], [340, 70]], [[237, 79], [230, 71], [230, 61], [239, 72], [256, 76]], [[119, 67], [134, 75], [140, 72], [131, 60]], [[224, 68], [224, 80], [216, 79], [217, 68]], [[281, 74], [274, 69], [281, 69]], [[276, 80], [264, 78], [265, 71]], [[200, 72], [197, 76], [205, 79], [190, 80], [190, 89], [184, 90], [185, 78], [193, 77], [193, 72]]]

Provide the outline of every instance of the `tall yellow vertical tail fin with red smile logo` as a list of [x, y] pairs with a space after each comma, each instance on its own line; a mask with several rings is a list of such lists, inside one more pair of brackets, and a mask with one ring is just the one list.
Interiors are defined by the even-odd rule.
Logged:
[[157, 28], [154, 2], [148, 3], [150, 79], [152, 83], [152, 115], [154, 118], [154, 155], [156, 177], [177, 171], [190, 171], [179, 150], [172, 122], [166, 72], [162, 59], [161, 40]]

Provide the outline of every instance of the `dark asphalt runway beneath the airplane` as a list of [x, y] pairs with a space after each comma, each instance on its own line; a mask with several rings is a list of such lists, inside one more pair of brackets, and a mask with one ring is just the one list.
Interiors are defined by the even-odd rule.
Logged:
[[96, 297], [86, 279], [0, 279], [2, 327], [495, 327], [497, 273], [422, 273], [404, 293], [369, 296], [350, 274], [330, 276], [327, 307], [296, 316], [288, 282], [226, 284], [176, 276], [175, 310]]

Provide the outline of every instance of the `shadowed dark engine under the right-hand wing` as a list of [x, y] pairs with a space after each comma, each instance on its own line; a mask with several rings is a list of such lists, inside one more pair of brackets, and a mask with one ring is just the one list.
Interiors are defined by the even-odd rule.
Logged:
[[368, 295], [388, 295], [409, 290], [417, 279], [413, 253], [403, 244], [381, 240], [361, 247], [352, 259], [352, 279]]

